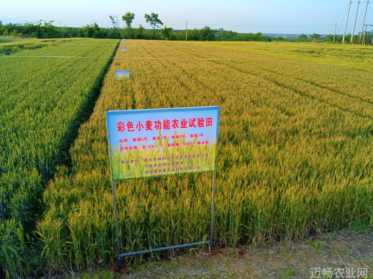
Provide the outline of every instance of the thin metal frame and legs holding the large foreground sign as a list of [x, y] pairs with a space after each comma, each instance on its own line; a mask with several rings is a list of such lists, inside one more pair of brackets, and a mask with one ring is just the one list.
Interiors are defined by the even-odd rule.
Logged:
[[[220, 116], [220, 107], [194, 107], [194, 108], [174, 108], [174, 109], [146, 109], [146, 110], [198, 110], [198, 109], [217, 109], [217, 124], [216, 124], [216, 145], [218, 144], [218, 135], [219, 135], [219, 116]], [[143, 109], [145, 110], [145, 109]], [[132, 110], [133, 111], [133, 110]], [[132, 113], [131, 110], [125, 111], [126, 113]], [[140, 111], [140, 110], [137, 110]], [[110, 146], [110, 136], [109, 136], [109, 128], [108, 128], [108, 122], [107, 122], [107, 113], [113, 113], [115, 111], [106, 111], [106, 125], [107, 125], [107, 136], [108, 136], [108, 146]], [[122, 111], [124, 112], [124, 111]], [[109, 151], [110, 152], [110, 151]], [[180, 245], [174, 245], [174, 246], [167, 246], [167, 247], [161, 247], [161, 248], [149, 248], [146, 250], [141, 251], [134, 251], [134, 252], [125, 252], [121, 253], [120, 251], [120, 243], [119, 243], [119, 226], [118, 226], [118, 212], [117, 212], [117, 199], [115, 194], [115, 181], [113, 181], [113, 177], [111, 176], [111, 185], [112, 185], [112, 191], [113, 191], [113, 202], [114, 202], [114, 216], [115, 216], [115, 227], [116, 227], [116, 235], [117, 235], [117, 250], [118, 250], [118, 266], [121, 266], [121, 260], [122, 257], [128, 257], [128, 256], [135, 256], [140, 255], [144, 253], [152, 253], [152, 252], [158, 252], [158, 251], [166, 251], [171, 249], [177, 249], [177, 248], [187, 248], [191, 246], [198, 246], [203, 244], [209, 245], [209, 250], [213, 248], [213, 231], [214, 231], [214, 213], [215, 213], [215, 192], [216, 192], [216, 169], [217, 169], [217, 152], [218, 150], [215, 150], [215, 169], [213, 171], [201, 171], [201, 172], [214, 172], [213, 175], [213, 183], [212, 183], [212, 206], [211, 206], [211, 223], [210, 223], [210, 239], [199, 241], [199, 242], [193, 242], [193, 243], [186, 243], [186, 244], [180, 244]], [[110, 171], [111, 171], [111, 162], [110, 164]], [[197, 172], [198, 173], [198, 172]], [[174, 174], [168, 174], [168, 175], [174, 175]], [[141, 179], [141, 178], [133, 178], [133, 179]]]

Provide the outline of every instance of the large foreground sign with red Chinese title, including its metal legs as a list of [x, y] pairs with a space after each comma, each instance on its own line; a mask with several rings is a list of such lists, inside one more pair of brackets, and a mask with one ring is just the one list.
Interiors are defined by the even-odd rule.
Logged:
[[[212, 249], [219, 110], [201, 107], [106, 112], [119, 267], [126, 256], [203, 244]], [[121, 253], [115, 181], [200, 172], [214, 172], [210, 240]]]

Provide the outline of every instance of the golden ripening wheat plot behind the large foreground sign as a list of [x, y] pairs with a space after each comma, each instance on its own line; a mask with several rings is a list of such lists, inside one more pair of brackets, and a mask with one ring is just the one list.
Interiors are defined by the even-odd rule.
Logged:
[[[45, 268], [116, 259], [108, 110], [220, 106], [214, 245], [372, 221], [371, 71], [342, 66], [344, 56], [315, 62], [249, 53], [264, 43], [217, 44], [127, 40], [117, 50], [71, 165], [44, 192], [36, 231]], [[310, 46], [292, 44], [291, 53]], [[116, 80], [116, 70], [131, 76]], [[123, 181], [116, 191], [122, 251], [208, 240], [211, 173]]]

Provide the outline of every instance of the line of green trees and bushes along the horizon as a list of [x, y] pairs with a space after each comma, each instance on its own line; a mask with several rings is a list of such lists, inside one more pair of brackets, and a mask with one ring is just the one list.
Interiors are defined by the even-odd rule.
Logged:
[[[110, 15], [109, 20], [112, 25], [110, 28], [102, 28], [96, 22], [87, 24], [82, 28], [75, 27], [58, 27], [51, 21], [39, 20], [37, 22], [8, 23], [2, 24], [0, 21], [0, 35], [3, 36], [18, 36], [18, 37], [33, 37], [39, 39], [48, 38], [96, 38], [96, 39], [146, 39], [146, 40], [172, 40], [172, 41], [288, 41], [288, 42], [312, 42], [326, 41], [333, 42], [334, 35], [330, 34], [322, 37], [320, 34], [313, 33], [312, 35], [301, 34], [298, 38], [288, 39], [286, 37], [274, 37], [257, 33], [237, 33], [234, 31], [225, 31], [222, 29], [216, 30], [209, 26], [201, 29], [192, 30], [173, 30], [172, 27], [163, 26], [163, 22], [159, 19], [158, 14], [151, 13], [144, 15], [146, 23], [151, 29], [145, 29], [143, 26], [132, 27], [135, 19], [135, 14], [127, 12], [121, 17], [125, 27], [119, 28], [119, 16]], [[354, 43], [361, 44], [359, 34], [354, 36]], [[365, 44], [370, 44], [373, 37], [373, 31], [367, 31]], [[347, 34], [345, 42], [350, 42], [351, 34]], [[341, 35], [336, 35], [335, 42], [342, 41]]]

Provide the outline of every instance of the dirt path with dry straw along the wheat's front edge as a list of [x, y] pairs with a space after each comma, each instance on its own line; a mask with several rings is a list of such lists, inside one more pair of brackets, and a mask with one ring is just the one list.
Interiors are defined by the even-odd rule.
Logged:
[[[208, 250], [191, 249], [184, 256], [152, 260], [118, 271], [113, 263], [108, 269], [92, 273], [50, 277], [54, 279], [303, 279], [317, 276], [316, 269], [329, 269], [332, 276], [344, 278], [346, 271], [367, 272], [373, 277], [373, 230], [343, 229], [338, 233], [314, 234], [309, 239], [274, 243], [264, 247], [241, 246]], [[336, 275], [337, 269], [339, 273]], [[339, 277], [338, 277], [339, 276]]]

